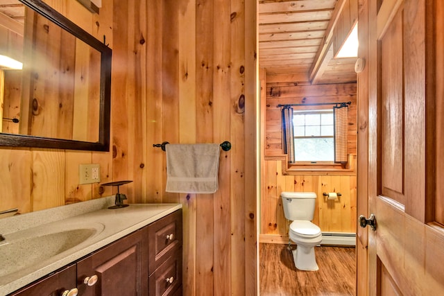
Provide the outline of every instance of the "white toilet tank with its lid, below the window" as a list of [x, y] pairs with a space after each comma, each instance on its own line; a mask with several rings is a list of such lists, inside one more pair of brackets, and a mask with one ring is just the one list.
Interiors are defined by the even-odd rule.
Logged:
[[282, 192], [280, 196], [287, 220], [313, 220], [316, 193]]

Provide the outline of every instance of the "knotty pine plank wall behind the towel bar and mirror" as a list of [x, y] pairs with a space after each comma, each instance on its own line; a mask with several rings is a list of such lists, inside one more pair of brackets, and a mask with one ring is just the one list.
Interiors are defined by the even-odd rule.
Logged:
[[[0, 210], [111, 195], [78, 185], [78, 164], [101, 164], [102, 183], [133, 180], [121, 188], [128, 202], [183, 204], [184, 295], [256, 295], [256, 3], [114, 0], [100, 15], [77, 1], [49, 3], [113, 49], [112, 146], [1, 148]], [[164, 191], [165, 154], [153, 143], [225, 140], [232, 149], [221, 151], [219, 191]]]

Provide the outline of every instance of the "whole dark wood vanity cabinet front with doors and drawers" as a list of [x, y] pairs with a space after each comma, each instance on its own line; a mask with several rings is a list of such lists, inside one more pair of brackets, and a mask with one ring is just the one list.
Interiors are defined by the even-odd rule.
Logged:
[[73, 289], [79, 296], [182, 295], [182, 210], [10, 295], [62, 296]]

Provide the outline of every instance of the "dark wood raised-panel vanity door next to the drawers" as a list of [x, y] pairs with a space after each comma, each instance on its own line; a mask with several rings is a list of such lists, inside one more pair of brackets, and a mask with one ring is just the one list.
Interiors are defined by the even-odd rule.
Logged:
[[146, 237], [140, 229], [78, 261], [79, 295], [148, 295]]

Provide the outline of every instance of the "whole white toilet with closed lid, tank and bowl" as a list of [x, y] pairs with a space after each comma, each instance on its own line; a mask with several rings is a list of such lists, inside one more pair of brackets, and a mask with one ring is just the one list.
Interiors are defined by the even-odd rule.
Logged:
[[321, 228], [311, 223], [316, 204], [314, 192], [282, 192], [282, 205], [287, 220], [293, 221], [290, 225], [290, 241], [296, 243], [296, 250], [292, 250], [294, 264], [298, 270], [318, 270], [314, 246], [322, 241]]

